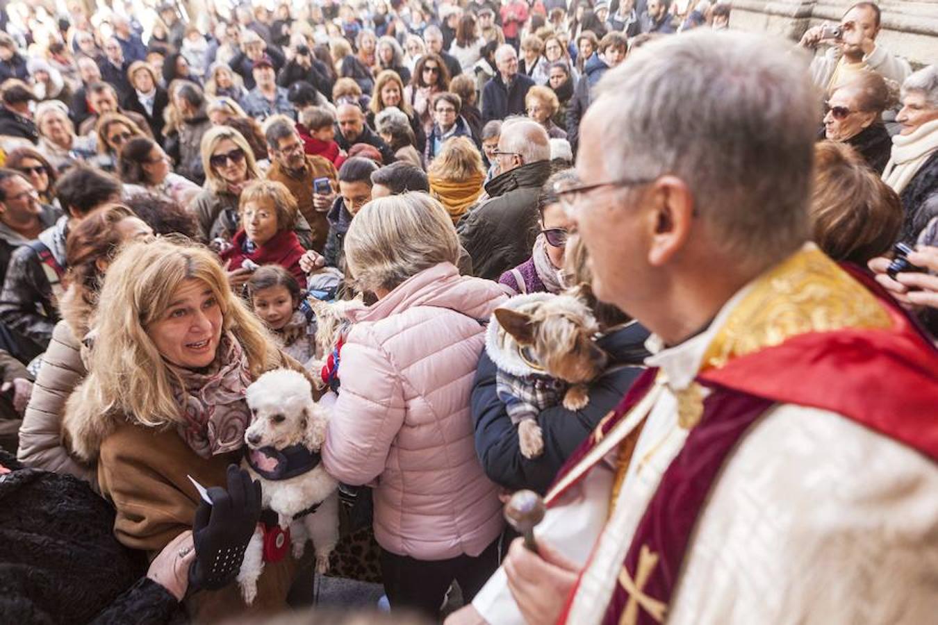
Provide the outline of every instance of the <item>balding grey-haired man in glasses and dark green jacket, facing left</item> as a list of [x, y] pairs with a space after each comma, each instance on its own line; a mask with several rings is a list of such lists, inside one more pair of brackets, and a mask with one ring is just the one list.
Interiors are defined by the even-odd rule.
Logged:
[[551, 143], [537, 122], [507, 119], [492, 156], [499, 174], [485, 186], [491, 199], [470, 211], [457, 231], [475, 274], [497, 280], [531, 256], [537, 197], [551, 175]]

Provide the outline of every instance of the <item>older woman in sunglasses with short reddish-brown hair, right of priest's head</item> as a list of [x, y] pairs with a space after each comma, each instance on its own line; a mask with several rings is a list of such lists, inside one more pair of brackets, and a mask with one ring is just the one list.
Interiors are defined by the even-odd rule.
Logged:
[[824, 138], [851, 145], [877, 173], [882, 173], [892, 138], [883, 124], [883, 112], [895, 97], [877, 72], [866, 70], [838, 87], [827, 100]]

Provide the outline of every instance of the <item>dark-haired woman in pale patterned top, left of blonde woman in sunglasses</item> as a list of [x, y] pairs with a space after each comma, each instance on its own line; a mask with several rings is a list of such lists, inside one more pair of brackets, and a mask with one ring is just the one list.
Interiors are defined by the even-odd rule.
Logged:
[[117, 173], [124, 183], [124, 194], [132, 198], [152, 193], [181, 206], [188, 206], [200, 187], [173, 171], [170, 157], [159, 143], [146, 137], [127, 141], [120, 150]]

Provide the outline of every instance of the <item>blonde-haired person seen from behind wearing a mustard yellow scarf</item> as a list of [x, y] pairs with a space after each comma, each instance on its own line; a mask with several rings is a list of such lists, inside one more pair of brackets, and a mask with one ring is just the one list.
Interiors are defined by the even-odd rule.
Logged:
[[455, 224], [482, 195], [485, 167], [476, 144], [467, 137], [454, 137], [427, 170], [430, 192], [439, 200]]

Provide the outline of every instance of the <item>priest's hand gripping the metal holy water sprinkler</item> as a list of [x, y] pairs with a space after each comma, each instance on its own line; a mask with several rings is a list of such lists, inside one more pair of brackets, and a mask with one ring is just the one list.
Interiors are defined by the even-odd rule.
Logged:
[[522, 538], [517, 538], [503, 566], [508, 590], [524, 620], [529, 625], [549, 625], [560, 618], [580, 568], [548, 543], [539, 541], [537, 550], [536, 554], [524, 546]]

